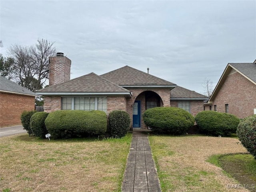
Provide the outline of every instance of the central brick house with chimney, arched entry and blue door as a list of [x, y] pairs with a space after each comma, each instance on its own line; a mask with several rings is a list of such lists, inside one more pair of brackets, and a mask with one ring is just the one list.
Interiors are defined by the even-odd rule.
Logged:
[[203, 100], [207, 99], [130, 66], [100, 76], [89, 73], [70, 80], [70, 59], [59, 53], [50, 57], [49, 61], [50, 86], [36, 91], [36, 94], [44, 95], [46, 112], [102, 110], [108, 115], [112, 110], [124, 110], [130, 114], [131, 128], [147, 129], [142, 120], [146, 109], [178, 106], [195, 115], [203, 110]]

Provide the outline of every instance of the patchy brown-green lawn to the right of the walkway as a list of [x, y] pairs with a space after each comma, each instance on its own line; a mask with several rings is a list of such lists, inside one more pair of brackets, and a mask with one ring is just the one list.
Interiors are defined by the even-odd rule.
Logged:
[[[149, 136], [162, 192], [230, 192], [240, 184], [222, 168], [207, 162], [212, 155], [247, 153], [237, 138]], [[236, 189], [236, 192], [248, 191]]]

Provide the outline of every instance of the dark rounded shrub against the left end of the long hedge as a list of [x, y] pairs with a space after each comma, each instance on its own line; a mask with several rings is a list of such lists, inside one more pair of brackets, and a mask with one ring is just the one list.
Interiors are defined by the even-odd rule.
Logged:
[[37, 112], [30, 118], [30, 128], [35, 136], [45, 138], [45, 135], [48, 133], [44, 124], [48, 114], [47, 112]]

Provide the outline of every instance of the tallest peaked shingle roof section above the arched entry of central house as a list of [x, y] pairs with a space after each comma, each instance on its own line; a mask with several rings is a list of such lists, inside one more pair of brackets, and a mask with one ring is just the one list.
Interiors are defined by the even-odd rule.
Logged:
[[176, 84], [134, 69], [130, 66], [100, 75], [122, 87], [175, 87]]

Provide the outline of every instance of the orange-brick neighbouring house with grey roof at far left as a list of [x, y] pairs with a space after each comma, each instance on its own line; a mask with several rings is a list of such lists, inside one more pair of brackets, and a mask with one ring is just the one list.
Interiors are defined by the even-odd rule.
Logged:
[[0, 76], [0, 127], [20, 125], [24, 110], [34, 110], [35, 93]]

